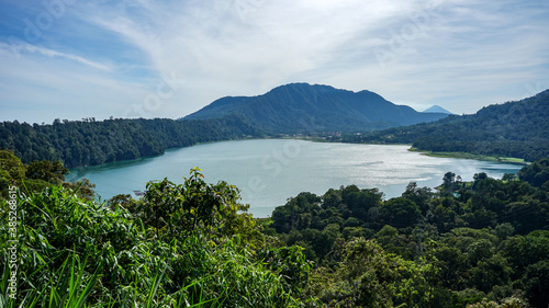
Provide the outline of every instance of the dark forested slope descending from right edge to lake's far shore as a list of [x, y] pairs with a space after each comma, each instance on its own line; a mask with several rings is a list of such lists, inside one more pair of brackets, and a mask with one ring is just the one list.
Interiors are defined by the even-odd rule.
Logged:
[[490, 105], [472, 115], [449, 116], [373, 132], [344, 136], [341, 141], [413, 144], [437, 152], [523, 158], [534, 161], [549, 157], [549, 90], [516, 102]]

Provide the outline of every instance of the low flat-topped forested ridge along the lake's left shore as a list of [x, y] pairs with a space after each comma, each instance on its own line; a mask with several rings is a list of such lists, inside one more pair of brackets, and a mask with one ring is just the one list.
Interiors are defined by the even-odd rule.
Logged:
[[56, 119], [52, 125], [0, 123], [0, 149], [12, 150], [25, 163], [58, 160], [68, 168], [157, 156], [169, 148], [247, 136], [259, 137], [260, 133], [234, 116], [201, 121]]

